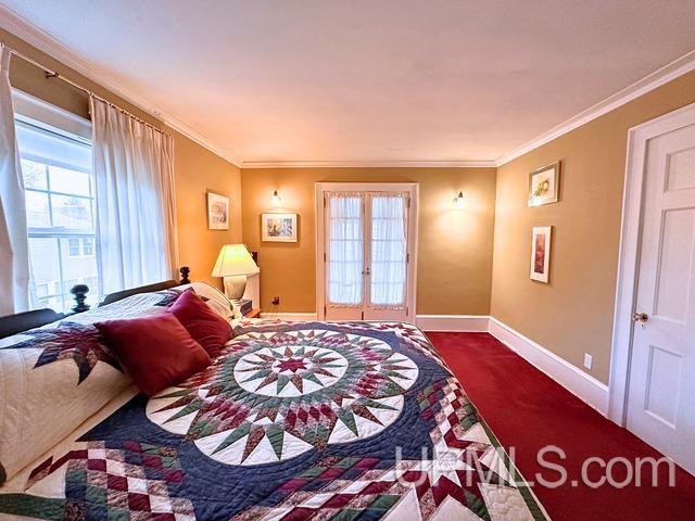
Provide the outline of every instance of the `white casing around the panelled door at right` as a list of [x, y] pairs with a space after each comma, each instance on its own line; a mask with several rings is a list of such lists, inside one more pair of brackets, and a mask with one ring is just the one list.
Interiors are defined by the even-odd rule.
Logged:
[[608, 381], [608, 418], [621, 427], [626, 427], [628, 420], [628, 389], [634, 328], [632, 314], [640, 276], [647, 142], [652, 138], [693, 124], [695, 124], [695, 103], [632, 127], [628, 131], [618, 283]]

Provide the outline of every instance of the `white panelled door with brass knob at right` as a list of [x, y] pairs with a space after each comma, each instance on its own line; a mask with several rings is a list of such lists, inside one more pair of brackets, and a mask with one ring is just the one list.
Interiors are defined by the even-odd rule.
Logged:
[[695, 473], [695, 125], [646, 152], [628, 429]]

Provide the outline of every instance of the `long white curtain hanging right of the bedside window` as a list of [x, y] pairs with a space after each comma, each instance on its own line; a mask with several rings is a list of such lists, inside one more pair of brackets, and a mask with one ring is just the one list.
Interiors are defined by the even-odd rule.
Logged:
[[174, 142], [91, 97], [100, 295], [175, 276]]

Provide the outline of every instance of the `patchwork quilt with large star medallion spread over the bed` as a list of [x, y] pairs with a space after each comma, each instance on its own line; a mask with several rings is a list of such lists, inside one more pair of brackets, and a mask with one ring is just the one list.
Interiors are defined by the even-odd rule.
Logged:
[[0, 488], [0, 512], [545, 519], [459, 382], [405, 323], [243, 321], [205, 371], [134, 397], [25, 481]]

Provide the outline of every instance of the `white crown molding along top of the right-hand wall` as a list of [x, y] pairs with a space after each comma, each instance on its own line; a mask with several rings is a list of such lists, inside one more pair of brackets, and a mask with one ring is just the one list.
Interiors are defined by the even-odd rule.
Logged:
[[581, 127], [582, 125], [585, 125], [589, 122], [596, 119], [597, 117], [603, 116], [604, 114], [607, 114], [608, 112], [614, 111], [619, 106], [646, 94], [657, 87], [668, 84], [679, 76], [683, 76], [692, 71], [695, 71], [695, 50], [683, 54], [681, 58], [673, 60], [668, 65], [648, 74], [644, 78], [622, 90], [619, 90], [615, 94], [609, 96], [604, 101], [601, 101], [585, 111], [580, 112], [576, 116], [570, 117], [566, 122], [560, 123], [556, 127], [543, 132], [528, 143], [513, 150], [508, 154], [497, 157], [495, 164], [496, 166], [502, 166], [505, 163], [509, 163], [511, 160], [516, 160], [517, 157], [531, 152], [532, 150], [538, 149], [539, 147], [548, 143], [554, 139], [559, 138], [560, 136], [568, 134], [569, 131], [574, 130], [576, 128]]

